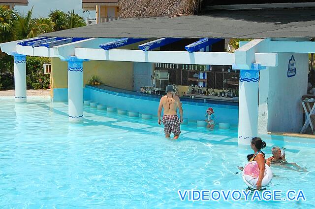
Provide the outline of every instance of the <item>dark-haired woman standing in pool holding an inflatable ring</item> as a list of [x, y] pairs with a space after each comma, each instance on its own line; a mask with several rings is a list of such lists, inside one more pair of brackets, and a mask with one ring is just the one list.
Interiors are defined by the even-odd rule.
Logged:
[[258, 164], [259, 168], [259, 176], [258, 176], [258, 181], [256, 183], [256, 188], [259, 190], [261, 189], [261, 181], [264, 177], [265, 174], [265, 153], [261, 151], [262, 148], [266, 147], [266, 142], [261, 140], [259, 137], [255, 137], [251, 141], [251, 148], [254, 150], [254, 155], [252, 156], [252, 161], [256, 161]]

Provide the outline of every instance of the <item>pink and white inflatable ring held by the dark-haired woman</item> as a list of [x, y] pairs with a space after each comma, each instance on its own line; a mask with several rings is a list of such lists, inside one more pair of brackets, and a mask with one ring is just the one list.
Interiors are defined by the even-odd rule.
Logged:
[[[255, 189], [256, 183], [259, 176], [259, 168], [256, 161], [249, 162], [246, 164], [243, 170], [243, 180], [244, 182], [250, 187]], [[264, 178], [261, 181], [261, 186], [267, 186], [270, 184], [272, 180], [273, 173], [270, 169], [270, 167], [265, 164], [265, 174]]]

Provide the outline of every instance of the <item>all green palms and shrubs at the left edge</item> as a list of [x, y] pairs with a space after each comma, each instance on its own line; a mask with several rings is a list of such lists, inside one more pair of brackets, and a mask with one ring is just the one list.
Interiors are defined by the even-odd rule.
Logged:
[[[32, 9], [24, 15], [0, 5], [0, 43], [85, 25], [83, 17], [75, 14], [74, 10], [68, 14], [54, 10], [48, 17], [32, 18]], [[0, 89], [13, 87], [13, 60], [13, 56], [0, 52]], [[50, 63], [49, 58], [27, 57], [28, 88], [49, 88], [50, 76], [43, 73], [44, 63]]]

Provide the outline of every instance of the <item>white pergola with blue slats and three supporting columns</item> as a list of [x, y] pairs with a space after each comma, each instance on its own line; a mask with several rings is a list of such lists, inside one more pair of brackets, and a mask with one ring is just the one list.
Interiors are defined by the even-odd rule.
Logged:
[[[143, 21], [136, 19], [136, 21], [140, 20]], [[128, 22], [129, 20], [121, 21]], [[118, 25], [116, 26], [114, 23], [107, 23], [107, 25], [105, 23], [104, 26], [112, 27], [115, 30], [119, 23], [120, 21], [117, 21], [116, 24]], [[89, 27], [82, 29], [89, 30]], [[93, 30], [95, 27], [90, 29]], [[64, 34], [76, 34], [75, 32], [79, 31], [80, 29], [78, 31], [68, 30]], [[150, 35], [147, 38], [140, 35], [125, 38], [118, 38], [118, 35], [111, 35], [108, 38], [87, 38], [82, 35], [81, 38], [52, 37], [52, 35], [57, 34], [61, 34], [61, 32], [0, 44], [1, 51], [15, 58], [16, 102], [26, 102], [26, 56], [59, 57], [68, 62], [68, 115], [69, 121], [76, 123], [83, 122], [83, 62], [103, 60], [231, 65], [232, 69], [240, 70], [238, 125], [240, 144], [249, 144], [250, 139], [257, 136], [259, 72], [270, 67], [277, 67], [279, 53], [315, 53], [315, 42], [311, 42], [309, 38], [304, 38], [305, 36], [303, 38], [257, 38], [244, 44], [234, 53], [227, 53], [200, 51], [205, 46], [219, 40], [213, 37], [202, 37], [199, 41], [192, 42], [185, 47], [186, 51], [152, 51], [154, 48], [170, 44], [176, 41], [176, 38], [181, 37], [152, 38]], [[77, 36], [80, 37], [80, 35]], [[117, 49], [143, 40], [147, 40], [147, 43], [139, 45], [138, 50]]]

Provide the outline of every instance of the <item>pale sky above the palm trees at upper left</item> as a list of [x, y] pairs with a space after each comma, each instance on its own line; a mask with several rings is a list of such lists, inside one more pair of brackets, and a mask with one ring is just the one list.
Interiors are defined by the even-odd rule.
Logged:
[[[89, 12], [83, 13], [82, 0], [29, 0], [28, 6], [15, 6], [14, 9], [27, 14], [32, 6], [34, 6], [32, 13], [34, 18], [47, 17], [50, 11], [55, 9], [64, 12], [74, 9], [74, 13], [84, 18], [89, 17]], [[90, 17], [95, 17], [95, 11], [91, 11]]]

